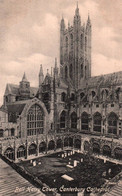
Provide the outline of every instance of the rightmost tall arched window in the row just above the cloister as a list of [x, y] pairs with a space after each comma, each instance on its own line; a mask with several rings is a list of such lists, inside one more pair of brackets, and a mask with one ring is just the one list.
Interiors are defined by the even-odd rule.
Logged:
[[108, 116], [108, 133], [117, 134], [117, 115], [112, 112]]

